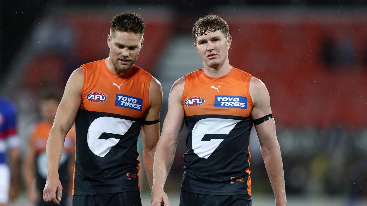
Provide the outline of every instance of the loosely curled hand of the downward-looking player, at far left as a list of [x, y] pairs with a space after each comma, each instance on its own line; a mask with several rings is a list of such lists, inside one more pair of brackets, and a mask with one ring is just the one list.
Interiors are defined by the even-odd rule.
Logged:
[[58, 175], [47, 176], [46, 185], [43, 190], [43, 201], [48, 205], [60, 205], [62, 186]]

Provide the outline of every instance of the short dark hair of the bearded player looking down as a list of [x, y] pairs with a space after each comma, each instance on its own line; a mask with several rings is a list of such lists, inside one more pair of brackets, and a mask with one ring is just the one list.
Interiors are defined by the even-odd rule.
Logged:
[[113, 17], [111, 22], [111, 35], [118, 32], [133, 32], [143, 36], [145, 22], [135, 12], [121, 13]]

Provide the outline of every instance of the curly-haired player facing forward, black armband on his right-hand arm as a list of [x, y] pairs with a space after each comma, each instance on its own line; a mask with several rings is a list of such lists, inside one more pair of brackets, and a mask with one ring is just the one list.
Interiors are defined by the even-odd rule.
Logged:
[[[251, 206], [249, 140], [252, 124], [261, 144], [276, 206], [286, 206], [283, 163], [264, 83], [230, 66], [229, 26], [217, 15], [192, 30], [204, 67], [178, 79], [157, 145], [152, 206], [168, 203], [163, 191], [183, 121], [188, 128], [180, 206]], [[246, 46], [246, 45], [244, 45]]]

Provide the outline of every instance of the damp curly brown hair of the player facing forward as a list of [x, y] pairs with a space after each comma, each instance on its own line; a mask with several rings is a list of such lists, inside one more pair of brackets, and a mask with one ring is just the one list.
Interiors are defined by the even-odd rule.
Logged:
[[198, 19], [192, 28], [192, 37], [196, 41], [197, 36], [220, 30], [224, 37], [229, 37], [229, 26], [224, 19], [216, 14], [209, 14]]

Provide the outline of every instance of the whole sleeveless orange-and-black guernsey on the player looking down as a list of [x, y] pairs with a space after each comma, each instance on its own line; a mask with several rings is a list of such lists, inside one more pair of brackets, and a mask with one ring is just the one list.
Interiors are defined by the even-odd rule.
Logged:
[[139, 191], [137, 139], [152, 75], [136, 65], [116, 75], [105, 59], [81, 67], [73, 195]]

